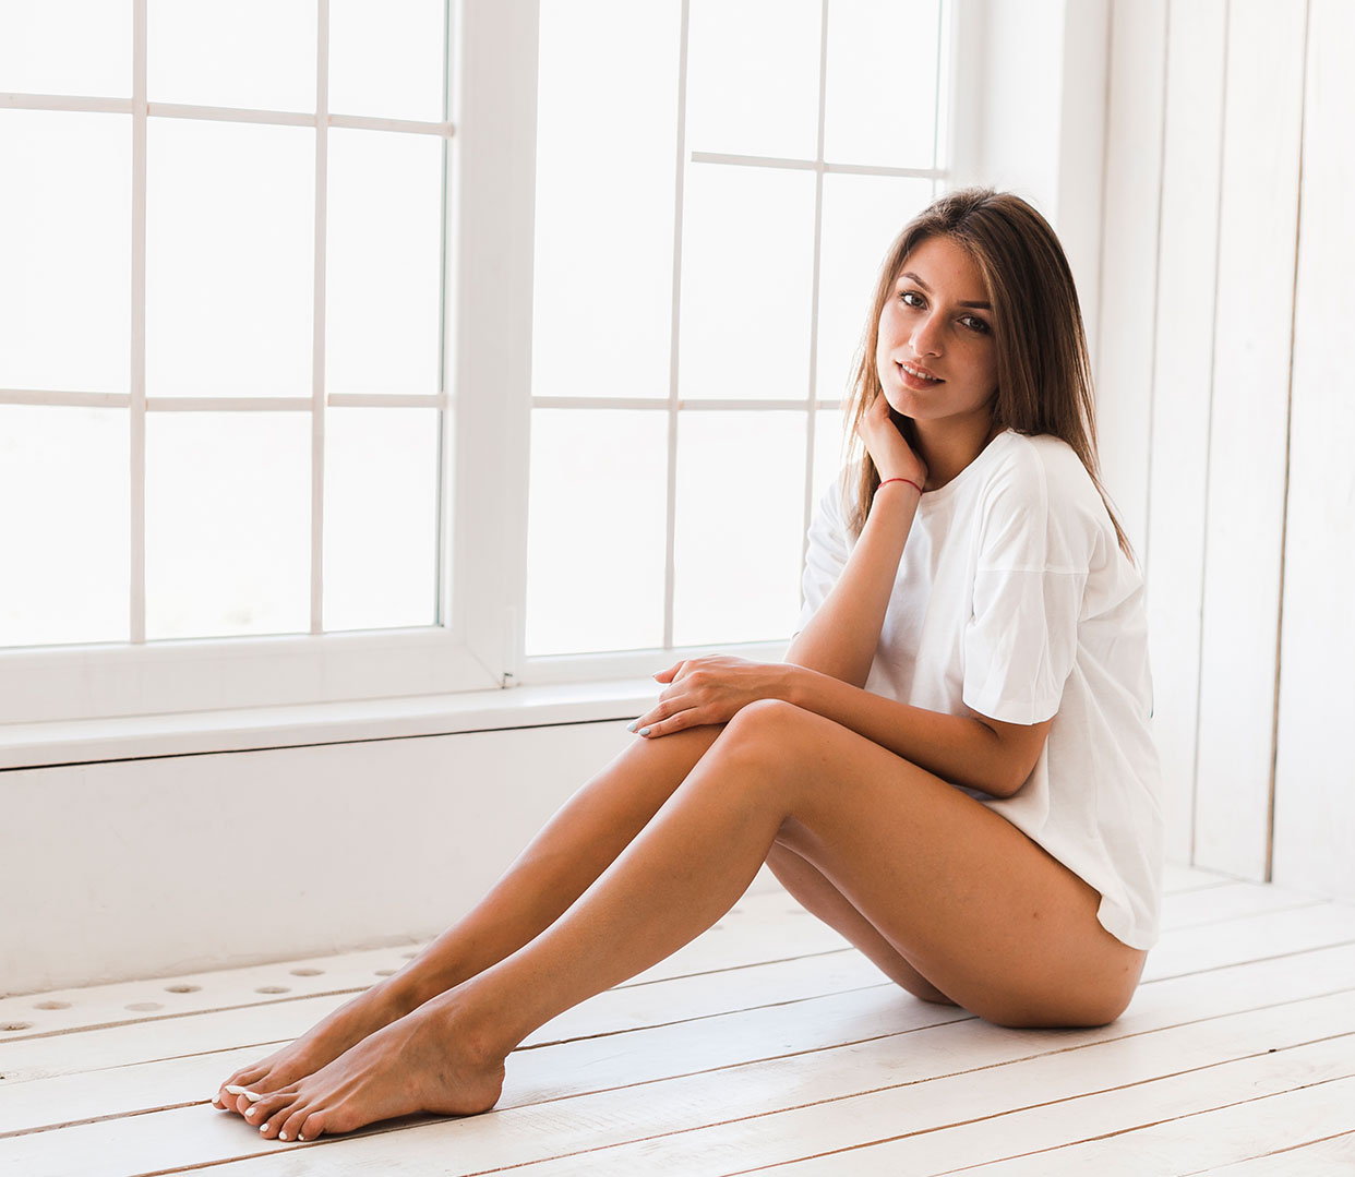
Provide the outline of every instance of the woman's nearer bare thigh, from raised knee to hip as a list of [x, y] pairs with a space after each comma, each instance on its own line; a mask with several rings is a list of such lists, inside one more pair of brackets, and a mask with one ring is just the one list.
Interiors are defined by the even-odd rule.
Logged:
[[785, 703], [741, 711], [715, 750], [785, 806], [778, 840], [959, 1005], [1095, 1025], [1127, 1004], [1145, 954], [1100, 926], [1092, 887], [980, 802]]

